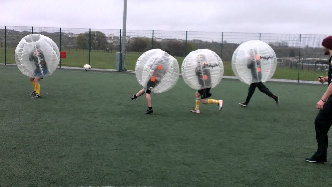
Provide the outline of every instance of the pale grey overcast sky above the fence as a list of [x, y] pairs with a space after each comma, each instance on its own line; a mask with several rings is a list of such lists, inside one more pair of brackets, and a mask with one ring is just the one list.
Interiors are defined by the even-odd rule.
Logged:
[[[0, 25], [122, 29], [123, 0], [0, 0]], [[127, 29], [332, 34], [331, 0], [127, 0]]]

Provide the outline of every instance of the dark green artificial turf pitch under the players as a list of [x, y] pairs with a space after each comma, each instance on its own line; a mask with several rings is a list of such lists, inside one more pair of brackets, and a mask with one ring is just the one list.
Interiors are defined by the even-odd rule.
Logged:
[[242, 187], [327, 186], [314, 119], [326, 85], [267, 82], [275, 101], [223, 79], [216, 104], [191, 113], [195, 90], [180, 77], [152, 94], [154, 113], [134, 74], [58, 69], [41, 80], [41, 98], [17, 67], [0, 66], [0, 186]]

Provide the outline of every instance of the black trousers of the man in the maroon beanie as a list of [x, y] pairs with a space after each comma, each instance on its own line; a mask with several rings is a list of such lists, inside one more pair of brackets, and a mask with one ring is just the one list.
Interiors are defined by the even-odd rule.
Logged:
[[319, 110], [315, 119], [316, 140], [318, 144], [314, 157], [319, 160], [326, 160], [328, 137], [327, 133], [332, 125], [332, 97], [324, 103], [323, 109]]

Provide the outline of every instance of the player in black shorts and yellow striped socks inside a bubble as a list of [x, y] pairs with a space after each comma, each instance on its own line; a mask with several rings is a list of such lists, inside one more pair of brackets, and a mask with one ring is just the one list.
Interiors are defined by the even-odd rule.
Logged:
[[196, 105], [195, 105], [195, 108], [193, 110], [191, 110], [191, 112], [201, 113], [201, 111], [200, 111], [201, 99], [202, 99], [203, 104], [217, 104], [219, 111], [220, 111], [222, 108], [223, 100], [207, 99], [212, 95], [212, 94], [210, 94], [212, 82], [211, 82], [211, 76], [210, 76], [210, 69], [207, 66], [207, 60], [206, 60], [205, 55], [199, 54], [197, 56], [197, 61], [196, 61], [195, 66], [196, 66], [195, 72], [196, 72], [196, 76], [198, 78], [198, 83], [204, 89], [198, 90], [195, 93]]

